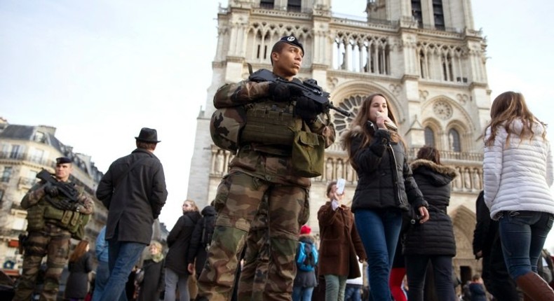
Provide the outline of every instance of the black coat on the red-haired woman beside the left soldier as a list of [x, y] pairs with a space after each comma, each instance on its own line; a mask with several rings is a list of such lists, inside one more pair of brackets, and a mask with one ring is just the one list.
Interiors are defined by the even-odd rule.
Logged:
[[69, 276], [65, 283], [66, 299], [84, 299], [88, 293], [88, 273], [93, 270], [93, 255], [84, 253], [75, 262], [67, 264]]

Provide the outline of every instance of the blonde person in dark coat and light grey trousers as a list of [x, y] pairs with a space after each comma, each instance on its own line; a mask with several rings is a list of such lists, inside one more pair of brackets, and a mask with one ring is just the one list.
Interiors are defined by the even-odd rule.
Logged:
[[189, 273], [187, 269], [192, 232], [202, 217], [192, 200], [183, 202], [183, 215], [177, 220], [168, 235], [169, 251], [165, 259], [164, 300], [175, 301], [175, 290], [179, 288], [180, 301], [189, 301]]

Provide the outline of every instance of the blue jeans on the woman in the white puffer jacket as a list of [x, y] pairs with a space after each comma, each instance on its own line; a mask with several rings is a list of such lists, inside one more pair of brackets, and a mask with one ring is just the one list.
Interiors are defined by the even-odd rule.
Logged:
[[512, 279], [536, 272], [536, 263], [553, 221], [553, 214], [541, 211], [503, 212], [499, 219], [499, 236]]

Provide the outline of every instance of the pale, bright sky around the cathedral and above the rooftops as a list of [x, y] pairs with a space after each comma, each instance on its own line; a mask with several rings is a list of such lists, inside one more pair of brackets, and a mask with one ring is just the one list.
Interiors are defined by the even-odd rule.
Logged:
[[[141, 127], [158, 130], [155, 154], [169, 191], [160, 220], [169, 229], [187, 197], [218, 7], [227, 6], [191, 2], [0, 1], [0, 116], [56, 127], [62, 143], [92, 156], [102, 172], [133, 151]], [[363, 17], [365, 3], [335, 0], [332, 10]], [[553, 125], [554, 1], [473, 0], [472, 7], [475, 29], [487, 37], [491, 101], [522, 92], [535, 115]]]

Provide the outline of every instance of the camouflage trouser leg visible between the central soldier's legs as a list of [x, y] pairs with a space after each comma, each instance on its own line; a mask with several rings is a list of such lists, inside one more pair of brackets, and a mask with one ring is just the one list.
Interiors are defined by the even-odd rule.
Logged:
[[270, 258], [267, 209], [267, 195], [264, 195], [246, 237], [238, 301], [262, 300], [263, 297]]

